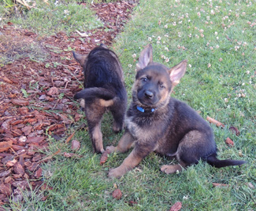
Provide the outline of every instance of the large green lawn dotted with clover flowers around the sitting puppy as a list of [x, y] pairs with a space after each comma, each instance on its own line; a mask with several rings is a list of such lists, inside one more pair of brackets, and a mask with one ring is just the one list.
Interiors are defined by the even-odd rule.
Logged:
[[[165, 175], [159, 168], [172, 161], [151, 153], [120, 180], [109, 180], [108, 170], [119, 166], [128, 153], [110, 155], [100, 166], [100, 155], [92, 154], [87, 131], [80, 130], [74, 138], [81, 142], [77, 154], [82, 158], [65, 158], [60, 154], [43, 166], [44, 180], [54, 187], [44, 192], [48, 195], [46, 201], [27, 198], [22, 205], [13, 202], [11, 208], [168, 210], [180, 201], [182, 210], [256, 209], [255, 189], [248, 187], [248, 183], [256, 187], [255, 27], [250, 27], [255, 23], [255, 9], [249, 1], [141, 0], [113, 45], [124, 67], [129, 100], [135, 78], [132, 55], [138, 58], [144, 45], [151, 43], [154, 61], [169, 67], [187, 59], [187, 73], [173, 96], [201, 111], [204, 118], [210, 115], [223, 122], [224, 129], [212, 126], [218, 157], [244, 159], [246, 165], [215, 169], [199, 162], [182, 173]], [[111, 124], [111, 115], [105, 115], [102, 122], [105, 146], [117, 144], [121, 137], [112, 132]], [[236, 126], [240, 136], [232, 134], [229, 126]], [[224, 144], [227, 136], [235, 142], [234, 147]], [[70, 144], [64, 142], [50, 139], [49, 153], [58, 148], [62, 153], [72, 151]], [[213, 182], [229, 186], [213, 187]], [[116, 185], [123, 194], [120, 200], [111, 195]], [[129, 206], [130, 201], [136, 204]]]

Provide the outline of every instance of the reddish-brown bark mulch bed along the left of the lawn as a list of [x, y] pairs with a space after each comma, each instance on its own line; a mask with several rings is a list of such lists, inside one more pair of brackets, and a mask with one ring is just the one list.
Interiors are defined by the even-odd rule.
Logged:
[[61, 141], [85, 118], [72, 100], [82, 87], [83, 71], [71, 51], [85, 54], [98, 43], [111, 45], [135, 5], [92, 5], [105, 25], [86, 31], [83, 39], [75, 32], [42, 38], [12, 23], [0, 28], [0, 56], [8, 62], [0, 67], [0, 206], [9, 198], [22, 201], [23, 190], [51, 188], [40, 168], [54, 156], [45, 156], [46, 134]]

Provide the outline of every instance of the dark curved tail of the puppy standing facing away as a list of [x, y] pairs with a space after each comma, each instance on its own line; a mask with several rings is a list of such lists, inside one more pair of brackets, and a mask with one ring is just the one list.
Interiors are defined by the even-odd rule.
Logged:
[[83, 89], [80, 92], [76, 93], [74, 98], [76, 100], [80, 98], [99, 98], [102, 100], [113, 100], [115, 96], [116, 93], [112, 92], [111, 90], [102, 87], [91, 87]]

